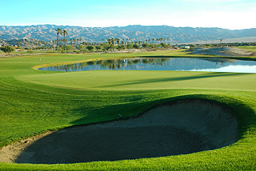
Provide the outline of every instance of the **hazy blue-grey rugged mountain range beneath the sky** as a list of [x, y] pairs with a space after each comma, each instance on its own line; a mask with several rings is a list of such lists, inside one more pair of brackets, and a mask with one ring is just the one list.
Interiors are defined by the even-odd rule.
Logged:
[[[142, 41], [152, 38], [170, 38], [171, 43], [202, 42], [230, 38], [256, 37], [256, 28], [246, 30], [227, 30], [221, 28], [192, 28], [174, 26], [113, 26], [113, 27], [81, 27], [81, 26], [0, 26], [0, 39], [34, 38], [42, 41], [56, 39], [56, 29], [66, 29], [70, 38], [82, 38], [86, 42], [102, 42], [102, 38], [130, 38]], [[63, 38], [63, 37], [61, 37]]]

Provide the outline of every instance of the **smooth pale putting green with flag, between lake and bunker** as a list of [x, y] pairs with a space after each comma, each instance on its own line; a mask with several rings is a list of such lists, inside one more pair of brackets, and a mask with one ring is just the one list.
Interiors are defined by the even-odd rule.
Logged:
[[190, 71], [83, 71], [17, 77], [71, 89], [232, 89], [255, 91], [256, 74]]

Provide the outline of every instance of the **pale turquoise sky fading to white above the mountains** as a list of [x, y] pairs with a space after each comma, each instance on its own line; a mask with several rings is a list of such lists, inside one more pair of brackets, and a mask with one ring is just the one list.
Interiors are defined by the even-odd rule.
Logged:
[[256, 28], [256, 0], [0, 0], [0, 26]]

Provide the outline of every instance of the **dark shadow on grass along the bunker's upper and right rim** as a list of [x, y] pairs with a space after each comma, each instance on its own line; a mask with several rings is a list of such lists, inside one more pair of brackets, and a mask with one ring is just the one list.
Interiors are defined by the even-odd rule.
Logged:
[[[94, 124], [98, 122], [109, 122], [109, 121], [117, 121], [123, 119], [130, 119], [132, 117], [137, 117], [142, 113], [146, 113], [146, 111], [158, 107], [159, 105], [170, 104], [175, 101], [182, 100], [203, 100], [203, 101], [213, 101], [214, 103], [218, 103], [223, 107], [232, 110], [235, 117], [238, 118], [238, 139], [244, 137], [247, 133], [247, 130], [255, 126], [256, 123], [256, 112], [254, 109], [251, 109], [250, 106], [244, 104], [242, 101], [239, 101], [233, 97], [217, 97], [214, 95], [207, 94], [189, 94], [178, 97], [167, 97], [162, 98], [160, 100], [155, 101], [130, 101], [126, 104], [118, 104], [118, 105], [108, 105], [103, 107], [102, 109], [95, 109], [92, 111], [92, 114], [86, 117], [82, 117], [76, 121], [72, 121], [71, 124], [74, 126], [86, 125], [86, 124]], [[78, 109], [79, 111], [82, 108]], [[121, 114], [122, 117], [119, 117], [118, 114]]]

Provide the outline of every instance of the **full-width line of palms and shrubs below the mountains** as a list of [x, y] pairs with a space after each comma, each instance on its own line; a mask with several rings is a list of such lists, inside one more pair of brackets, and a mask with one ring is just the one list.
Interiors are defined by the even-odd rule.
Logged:
[[[144, 41], [134, 41], [131, 38], [102, 38], [101, 42], [87, 42], [82, 40], [82, 38], [70, 38], [66, 39], [69, 35], [67, 30], [62, 30], [60, 28], [56, 29], [57, 38], [52, 41], [40, 41], [40, 40], [29, 40], [23, 39], [23, 41], [18, 43], [19, 48], [22, 45], [31, 45], [32, 47], [26, 48], [30, 50], [57, 50], [58, 53], [85, 53], [94, 51], [114, 51], [114, 50], [126, 50], [126, 49], [145, 49], [145, 50], [166, 50], [166, 49], [178, 49], [181, 46], [194, 47], [214, 47], [214, 46], [256, 46], [256, 43], [222, 43], [220, 39], [219, 44], [194, 44], [186, 45], [179, 44], [178, 41], [174, 41], [171, 38], [146, 38]], [[63, 36], [63, 38], [61, 38]], [[6, 48], [2, 51], [10, 53], [13, 48]]]

